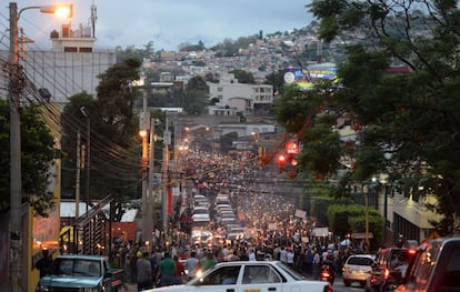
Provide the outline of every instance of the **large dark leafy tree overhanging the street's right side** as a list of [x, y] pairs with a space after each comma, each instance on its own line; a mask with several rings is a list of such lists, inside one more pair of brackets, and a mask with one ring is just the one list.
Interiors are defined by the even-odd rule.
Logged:
[[[456, 1], [420, 3], [429, 16], [404, 1], [313, 0], [309, 8], [320, 20], [321, 39], [360, 32], [366, 41], [347, 47], [339, 88], [288, 92], [279, 118], [288, 130], [307, 137], [302, 157], [314, 162], [303, 167], [332, 173], [347, 157], [352, 161], [348, 179], [390, 173], [391, 183], [407, 197], [436, 195], [437, 203], [428, 207], [443, 219], [433, 223], [441, 234], [452, 234], [460, 230], [460, 205], [454, 203], [460, 199], [460, 79], [454, 61], [460, 11]], [[413, 26], [420, 23], [426, 31], [416, 33]], [[404, 64], [409, 72], [389, 74], [391, 64]], [[321, 114], [312, 114], [314, 109]], [[337, 118], [359, 125], [358, 143], [339, 142]], [[312, 131], [318, 125], [322, 130]], [[326, 161], [314, 159], [317, 154], [326, 154]]]

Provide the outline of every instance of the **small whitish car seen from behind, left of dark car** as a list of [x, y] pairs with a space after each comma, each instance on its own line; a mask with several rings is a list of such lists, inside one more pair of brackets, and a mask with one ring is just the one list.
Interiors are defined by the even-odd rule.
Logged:
[[366, 284], [368, 275], [372, 271], [372, 264], [376, 263], [372, 254], [353, 254], [348, 256], [342, 268], [343, 284], [351, 285], [359, 282], [362, 286]]

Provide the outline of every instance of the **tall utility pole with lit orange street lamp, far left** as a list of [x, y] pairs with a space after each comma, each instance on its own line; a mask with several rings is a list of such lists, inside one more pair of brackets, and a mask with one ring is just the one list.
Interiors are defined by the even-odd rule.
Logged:
[[42, 13], [54, 13], [71, 18], [72, 6], [37, 6], [27, 7], [18, 12], [18, 4], [10, 2], [10, 54], [9, 54], [9, 103], [10, 103], [10, 291], [18, 292], [24, 281], [22, 276], [22, 224], [21, 224], [21, 69], [19, 67], [18, 20], [22, 11], [39, 9]]

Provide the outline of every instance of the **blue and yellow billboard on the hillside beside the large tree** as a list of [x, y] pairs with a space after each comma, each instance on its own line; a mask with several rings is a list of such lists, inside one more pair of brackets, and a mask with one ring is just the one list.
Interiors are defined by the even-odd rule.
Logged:
[[284, 69], [284, 83], [296, 84], [301, 89], [310, 89], [317, 80], [337, 82], [337, 67], [334, 63], [319, 63], [313, 66], [289, 67]]

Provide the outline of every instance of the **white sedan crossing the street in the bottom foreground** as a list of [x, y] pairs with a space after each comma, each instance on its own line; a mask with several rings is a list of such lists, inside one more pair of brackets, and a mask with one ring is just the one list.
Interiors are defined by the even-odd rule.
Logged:
[[331, 292], [328, 282], [306, 281], [279, 261], [239, 261], [218, 263], [183, 285], [149, 291], [171, 292]]

